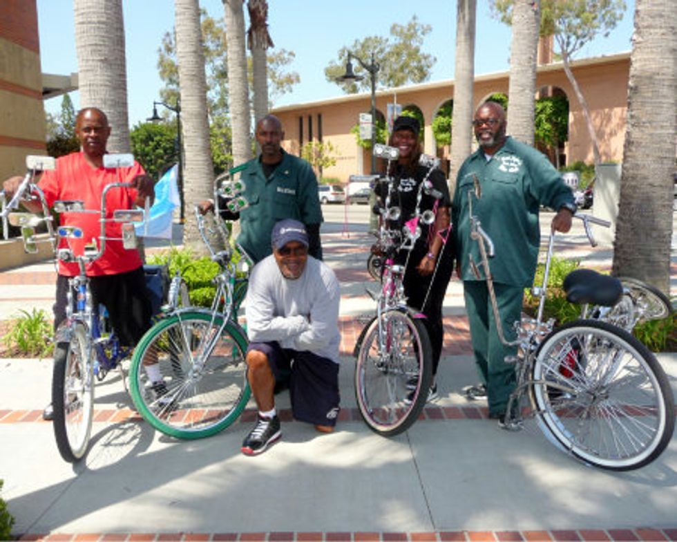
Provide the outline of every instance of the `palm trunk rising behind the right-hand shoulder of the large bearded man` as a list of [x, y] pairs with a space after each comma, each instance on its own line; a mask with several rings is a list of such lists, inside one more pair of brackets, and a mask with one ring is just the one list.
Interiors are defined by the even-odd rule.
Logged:
[[540, 1], [515, 0], [508, 83], [508, 133], [529, 145], [533, 145], [536, 51], [540, 22]]

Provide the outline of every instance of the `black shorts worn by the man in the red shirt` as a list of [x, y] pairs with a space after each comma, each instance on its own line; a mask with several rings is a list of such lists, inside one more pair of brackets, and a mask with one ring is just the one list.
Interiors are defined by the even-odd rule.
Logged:
[[[53, 308], [55, 329], [66, 319], [68, 279], [57, 276], [57, 300]], [[144, 268], [89, 277], [89, 286], [93, 306], [99, 303], [106, 306], [120, 344], [136, 346], [151, 327], [151, 301], [146, 293]]]

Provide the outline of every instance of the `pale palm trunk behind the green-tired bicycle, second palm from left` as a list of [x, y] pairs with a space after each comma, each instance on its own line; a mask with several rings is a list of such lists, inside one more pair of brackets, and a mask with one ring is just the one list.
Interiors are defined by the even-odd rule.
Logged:
[[[185, 153], [183, 189], [186, 209], [193, 209], [200, 201], [213, 196], [214, 176], [209, 146], [207, 78], [204, 75], [199, 1], [175, 0], [174, 18]], [[192, 212], [186, 213], [184, 244], [198, 253], [206, 251]]]

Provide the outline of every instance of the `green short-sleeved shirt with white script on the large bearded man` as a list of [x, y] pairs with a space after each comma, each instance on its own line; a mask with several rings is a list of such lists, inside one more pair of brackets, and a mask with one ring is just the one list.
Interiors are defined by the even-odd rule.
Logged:
[[[469, 254], [479, 266], [477, 241], [470, 240], [468, 190], [473, 175], [481, 186], [481, 199], [473, 200], [473, 213], [495, 245], [490, 269], [496, 282], [528, 287], [533, 283], [540, 245], [540, 205], [560, 209], [574, 203], [571, 189], [543, 153], [507, 138], [490, 160], [482, 149], [461, 166], [452, 203], [456, 254], [464, 281], [477, 280], [470, 271]], [[474, 198], [474, 196], [473, 196]]]

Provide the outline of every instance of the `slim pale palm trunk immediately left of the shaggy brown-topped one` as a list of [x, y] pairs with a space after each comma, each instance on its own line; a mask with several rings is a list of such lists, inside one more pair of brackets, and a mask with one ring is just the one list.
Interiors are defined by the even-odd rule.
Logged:
[[233, 133], [233, 165], [251, 158], [251, 111], [247, 84], [243, 0], [223, 0], [228, 62], [228, 103]]

